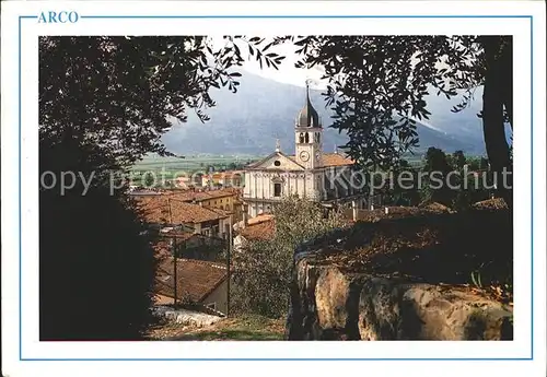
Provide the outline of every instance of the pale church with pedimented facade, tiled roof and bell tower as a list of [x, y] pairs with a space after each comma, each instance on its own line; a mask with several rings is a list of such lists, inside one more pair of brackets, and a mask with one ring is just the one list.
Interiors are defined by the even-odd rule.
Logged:
[[245, 167], [243, 201], [249, 217], [270, 213], [276, 203], [291, 195], [327, 208], [365, 204], [354, 162], [342, 153], [323, 152], [323, 125], [307, 85], [304, 107], [294, 123], [294, 155], [283, 153], [278, 141], [274, 153]]

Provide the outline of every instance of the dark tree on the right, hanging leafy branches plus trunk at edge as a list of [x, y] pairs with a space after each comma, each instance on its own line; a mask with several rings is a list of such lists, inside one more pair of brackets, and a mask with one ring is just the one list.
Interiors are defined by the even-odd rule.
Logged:
[[[419, 145], [416, 120], [428, 119], [430, 91], [464, 97], [482, 85], [485, 144], [491, 169], [512, 172], [505, 122], [512, 127], [511, 36], [284, 36], [299, 46], [296, 67], [325, 68], [333, 127], [347, 131], [350, 155], [365, 167], [386, 168]], [[512, 186], [512, 182], [511, 182]], [[498, 188], [510, 208], [512, 190]]]

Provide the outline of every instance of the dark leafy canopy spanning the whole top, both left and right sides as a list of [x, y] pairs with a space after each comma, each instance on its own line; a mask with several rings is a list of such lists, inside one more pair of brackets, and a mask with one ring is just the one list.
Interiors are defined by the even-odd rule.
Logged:
[[331, 127], [347, 133], [361, 166], [389, 167], [419, 146], [430, 92], [463, 94], [458, 111], [482, 85], [488, 158], [494, 172], [511, 167], [503, 129], [512, 125], [512, 39], [504, 36], [42, 37], [40, 132], [54, 140], [69, 132], [124, 166], [167, 155], [160, 138], [172, 118], [184, 122], [191, 110], [208, 120], [211, 89], [236, 92], [245, 60], [278, 69], [275, 47], [283, 43], [296, 46], [296, 67], [324, 69]]

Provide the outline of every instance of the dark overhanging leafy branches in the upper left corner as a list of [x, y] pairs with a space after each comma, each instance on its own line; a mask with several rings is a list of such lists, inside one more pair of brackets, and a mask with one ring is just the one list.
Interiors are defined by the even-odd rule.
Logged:
[[191, 110], [207, 121], [210, 90], [235, 93], [246, 59], [278, 68], [271, 46], [246, 36], [40, 37], [40, 134], [98, 145], [121, 165], [170, 155], [160, 141], [170, 118], [184, 122]]

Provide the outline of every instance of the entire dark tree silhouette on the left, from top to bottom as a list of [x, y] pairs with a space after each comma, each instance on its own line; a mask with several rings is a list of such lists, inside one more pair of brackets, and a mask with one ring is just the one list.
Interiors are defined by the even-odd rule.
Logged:
[[[266, 66], [283, 59], [244, 36], [220, 48], [202, 36], [39, 38], [42, 340], [140, 337], [155, 267], [120, 173], [146, 153], [171, 155], [160, 139], [170, 117], [206, 121], [212, 87], [236, 92], [236, 42]], [[67, 172], [91, 185], [61, 193]]]

